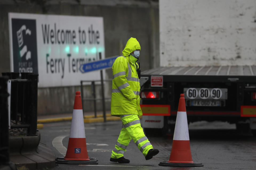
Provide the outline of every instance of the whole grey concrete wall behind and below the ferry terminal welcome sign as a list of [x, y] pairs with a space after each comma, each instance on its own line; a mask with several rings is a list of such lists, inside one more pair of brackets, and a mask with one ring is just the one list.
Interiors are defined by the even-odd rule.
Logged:
[[[130, 37], [141, 45], [140, 65], [147, 70], [159, 66], [159, 10], [155, 0], [2, 0], [0, 1], [0, 73], [10, 71], [8, 12], [56, 14], [77, 16], [102, 16], [104, 19], [105, 56], [122, 55]], [[111, 78], [111, 69], [105, 79]], [[79, 80], [80, 81], [80, 80]], [[107, 83], [106, 83], [107, 84]], [[38, 89], [38, 114], [71, 113], [75, 91], [80, 87], [53, 87]], [[85, 97], [91, 97], [91, 86], [83, 87]], [[101, 87], [97, 86], [100, 98]], [[110, 97], [111, 84], [105, 87]], [[101, 101], [97, 101], [101, 110]], [[110, 110], [110, 101], [106, 102]], [[93, 111], [92, 101], [86, 101], [84, 111]]]

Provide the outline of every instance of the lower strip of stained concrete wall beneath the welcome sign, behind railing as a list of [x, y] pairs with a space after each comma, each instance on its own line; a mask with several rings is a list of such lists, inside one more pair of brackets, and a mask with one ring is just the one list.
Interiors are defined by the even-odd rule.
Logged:
[[[38, 89], [38, 114], [71, 113], [73, 111], [75, 92], [80, 86], [52, 87]], [[104, 83], [105, 98], [111, 97], [111, 82]], [[96, 99], [101, 99], [101, 85], [95, 86]], [[92, 86], [83, 86], [84, 99], [92, 99]], [[110, 101], [105, 100], [106, 110], [110, 110]], [[102, 111], [102, 100], [96, 100], [97, 111]], [[83, 111], [94, 112], [93, 100], [83, 101]]]

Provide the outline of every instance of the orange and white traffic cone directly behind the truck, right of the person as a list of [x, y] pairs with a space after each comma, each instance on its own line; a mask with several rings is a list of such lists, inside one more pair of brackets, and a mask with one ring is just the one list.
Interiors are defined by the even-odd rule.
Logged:
[[160, 162], [160, 166], [170, 167], [202, 167], [202, 163], [194, 163], [190, 151], [189, 128], [184, 94], [179, 98], [179, 106], [175, 123], [173, 145], [168, 162]]

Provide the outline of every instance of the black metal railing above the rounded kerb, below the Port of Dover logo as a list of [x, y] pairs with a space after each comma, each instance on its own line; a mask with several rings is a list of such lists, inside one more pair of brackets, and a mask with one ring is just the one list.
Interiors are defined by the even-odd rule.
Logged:
[[11, 83], [10, 128], [27, 128], [28, 136], [37, 135], [37, 90], [38, 74], [2, 73]]

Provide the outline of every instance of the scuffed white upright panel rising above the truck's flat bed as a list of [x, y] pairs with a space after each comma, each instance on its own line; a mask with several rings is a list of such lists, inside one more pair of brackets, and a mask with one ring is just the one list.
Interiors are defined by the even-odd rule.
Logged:
[[160, 65], [256, 65], [255, 0], [159, 0]]

